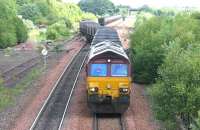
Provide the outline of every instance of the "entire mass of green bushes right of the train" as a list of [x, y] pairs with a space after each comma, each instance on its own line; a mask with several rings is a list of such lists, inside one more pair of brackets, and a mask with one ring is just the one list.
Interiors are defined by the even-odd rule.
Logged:
[[197, 118], [200, 110], [198, 16], [184, 12], [137, 19], [131, 35], [134, 81], [152, 84], [156, 117], [168, 130], [177, 129], [177, 116], [189, 129], [191, 117]]

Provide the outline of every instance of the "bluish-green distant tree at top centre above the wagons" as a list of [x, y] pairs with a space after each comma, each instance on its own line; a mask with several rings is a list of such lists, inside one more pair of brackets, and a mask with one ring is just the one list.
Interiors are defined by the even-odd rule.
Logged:
[[113, 15], [117, 8], [110, 0], [81, 0], [79, 6], [83, 11], [96, 15]]

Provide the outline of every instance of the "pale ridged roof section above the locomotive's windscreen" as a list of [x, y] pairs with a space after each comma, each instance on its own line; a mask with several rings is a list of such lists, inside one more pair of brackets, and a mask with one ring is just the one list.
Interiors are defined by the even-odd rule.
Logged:
[[96, 45], [92, 46], [88, 60], [91, 60], [95, 56], [106, 53], [106, 52], [115, 53], [115, 54], [120, 55], [120, 56], [124, 57], [125, 59], [129, 60], [128, 56], [126, 55], [126, 53], [121, 45], [116, 44], [111, 41], [108, 41], [108, 40], [97, 43]]

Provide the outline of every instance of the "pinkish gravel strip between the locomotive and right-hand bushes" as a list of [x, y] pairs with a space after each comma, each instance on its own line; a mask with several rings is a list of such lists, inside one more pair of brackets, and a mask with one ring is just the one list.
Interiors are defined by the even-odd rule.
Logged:
[[126, 130], [159, 130], [159, 124], [154, 120], [144, 86], [133, 84], [131, 103], [124, 114]]

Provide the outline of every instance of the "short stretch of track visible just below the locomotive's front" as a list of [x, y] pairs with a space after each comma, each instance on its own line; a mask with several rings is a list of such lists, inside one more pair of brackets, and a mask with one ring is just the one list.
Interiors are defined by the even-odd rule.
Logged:
[[125, 130], [121, 114], [94, 114], [93, 130]]

